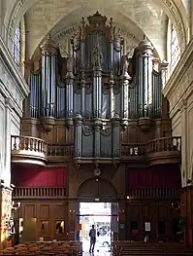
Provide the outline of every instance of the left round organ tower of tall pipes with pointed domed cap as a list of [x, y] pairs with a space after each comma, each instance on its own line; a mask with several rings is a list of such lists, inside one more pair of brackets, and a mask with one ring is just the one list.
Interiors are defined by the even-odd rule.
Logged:
[[57, 49], [55, 42], [48, 39], [42, 50], [42, 116], [55, 117], [55, 69]]

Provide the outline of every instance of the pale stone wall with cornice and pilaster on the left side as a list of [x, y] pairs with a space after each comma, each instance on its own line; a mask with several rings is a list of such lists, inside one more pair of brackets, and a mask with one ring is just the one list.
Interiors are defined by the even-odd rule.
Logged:
[[11, 135], [20, 132], [22, 101], [29, 93], [12, 56], [0, 38], [0, 179], [11, 182]]

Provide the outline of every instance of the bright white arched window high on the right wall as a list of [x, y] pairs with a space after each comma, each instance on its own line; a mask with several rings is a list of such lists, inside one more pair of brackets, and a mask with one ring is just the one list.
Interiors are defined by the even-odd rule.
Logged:
[[167, 52], [168, 52], [167, 54], [168, 54], [168, 62], [170, 67], [170, 74], [172, 74], [180, 58], [180, 47], [179, 47], [179, 41], [177, 37], [177, 29], [171, 20], [169, 20], [169, 24], [168, 24]]

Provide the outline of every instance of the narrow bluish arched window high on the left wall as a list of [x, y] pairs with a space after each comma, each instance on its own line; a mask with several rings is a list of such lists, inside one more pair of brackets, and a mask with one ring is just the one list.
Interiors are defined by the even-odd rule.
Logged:
[[20, 65], [20, 26], [16, 27], [16, 33], [13, 44], [13, 56], [16, 62], [16, 65]]

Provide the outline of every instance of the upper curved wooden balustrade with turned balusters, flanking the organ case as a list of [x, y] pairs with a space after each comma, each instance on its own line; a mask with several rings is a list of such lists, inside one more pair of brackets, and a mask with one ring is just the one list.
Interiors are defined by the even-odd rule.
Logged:
[[[144, 144], [122, 143], [120, 157], [122, 159], [144, 159], [148, 156], [162, 152], [178, 152], [181, 150], [181, 138], [162, 137], [153, 139]], [[73, 144], [48, 144], [43, 139], [30, 136], [12, 136], [12, 157], [27, 155], [30, 157], [44, 158], [45, 160], [61, 161], [64, 158], [72, 159], [74, 156]], [[169, 157], [170, 158], [170, 157]]]

